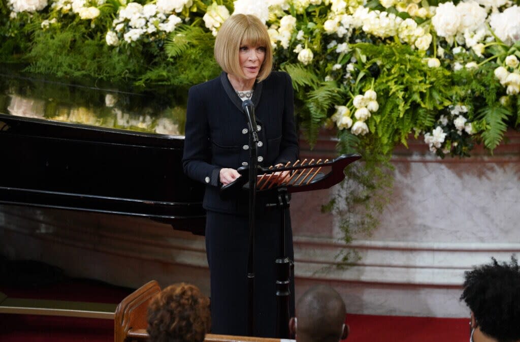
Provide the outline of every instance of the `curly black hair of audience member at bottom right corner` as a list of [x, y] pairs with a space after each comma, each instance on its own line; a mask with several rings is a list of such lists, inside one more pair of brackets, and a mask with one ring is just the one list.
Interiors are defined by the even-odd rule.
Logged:
[[511, 263], [491, 258], [464, 273], [464, 300], [471, 309], [480, 331], [498, 342], [520, 340], [520, 268], [511, 256]]

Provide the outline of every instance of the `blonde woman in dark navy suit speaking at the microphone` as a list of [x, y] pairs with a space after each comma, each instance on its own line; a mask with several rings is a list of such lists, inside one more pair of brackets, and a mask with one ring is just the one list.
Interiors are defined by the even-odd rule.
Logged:
[[[234, 15], [216, 37], [215, 58], [223, 72], [189, 91], [183, 165], [192, 179], [206, 184], [206, 254], [211, 273], [212, 333], [245, 335], [248, 259], [248, 194], [222, 199], [219, 186], [235, 180], [249, 161], [249, 132], [242, 101], [255, 105], [258, 164], [294, 162], [298, 142], [293, 116], [293, 88], [287, 73], [271, 72], [267, 30], [252, 15]], [[271, 196], [256, 197], [255, 335], [274, 337], [276, 329], [275, 259], [280, 211], [266, 210]], [[292, 232], [288, 234], [293, 258]], [[291, 314], [294, 284], [291, 284]]]

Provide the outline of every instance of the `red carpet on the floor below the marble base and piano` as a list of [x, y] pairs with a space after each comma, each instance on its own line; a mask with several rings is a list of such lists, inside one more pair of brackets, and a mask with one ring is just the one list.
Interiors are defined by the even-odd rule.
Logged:
[[[0, 287], [9, 297], [118, 303], [132, 289], [89, 280], [34, 288]], [[468, 319], [348, 314], [346, 342], [467, 342]], [[113, 322], [102, 319], [0, 314], [1, 342], [111, 342]]]

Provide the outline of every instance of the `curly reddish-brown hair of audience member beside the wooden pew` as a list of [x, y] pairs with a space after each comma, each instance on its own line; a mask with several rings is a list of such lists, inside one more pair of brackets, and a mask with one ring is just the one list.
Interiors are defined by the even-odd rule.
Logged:
[[148, 306], [151, 342], [202, 342], [210, 326], [210, 299], [194, 285], [170, 285]]

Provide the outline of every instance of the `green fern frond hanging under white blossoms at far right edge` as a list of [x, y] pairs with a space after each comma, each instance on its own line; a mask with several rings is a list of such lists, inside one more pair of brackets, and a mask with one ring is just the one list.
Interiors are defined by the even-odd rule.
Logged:
[[493, 106], [486, 106], [478, 110], [478, 118], [484, 119], [486, 122], [486, 130], [482, 133], [484, 145], [491, 151], [495, 149], [504, 132], [508, 129], [507, 120], [511, 112], [499, 104]]

